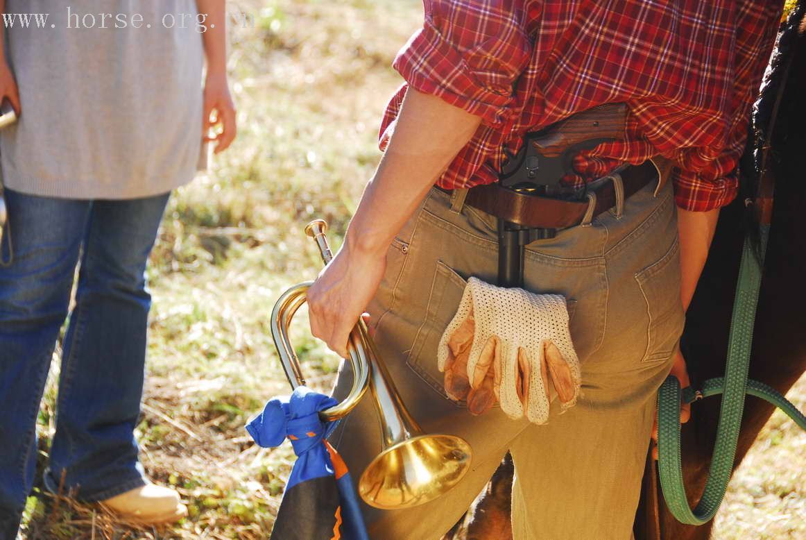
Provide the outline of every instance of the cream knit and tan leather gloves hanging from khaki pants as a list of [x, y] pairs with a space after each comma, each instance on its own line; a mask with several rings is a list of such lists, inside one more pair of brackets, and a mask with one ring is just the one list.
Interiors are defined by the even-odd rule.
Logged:
[[448, 396], [466, 399], [474, 414], [497, 400], [509, 417], [544, 424], [554, 397], [564, 410], [580, 393], [565, 299], [556, 294], [470, 278], [439, 341], [437, 361]]

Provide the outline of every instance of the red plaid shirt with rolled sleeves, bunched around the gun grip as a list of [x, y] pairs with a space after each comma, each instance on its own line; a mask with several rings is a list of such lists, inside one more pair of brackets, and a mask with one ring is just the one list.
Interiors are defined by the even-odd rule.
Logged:
[[585, 178], [662, 154], [677, 204], [724, 206], [778, 29], [770, 0], [424, 0], [426, 20], [394, 67], [408, 86], [482, 118], [438, 185], [488, 184], [521, 135], [609, 102], [629, 106], [623, 141], [575, 159]]

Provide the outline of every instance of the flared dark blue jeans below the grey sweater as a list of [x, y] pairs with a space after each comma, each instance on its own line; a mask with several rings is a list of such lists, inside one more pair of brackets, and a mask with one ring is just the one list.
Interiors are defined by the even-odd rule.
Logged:
[[128, 201], [6, 190], [0, 258], [0, 538], [34, 481], [35, 422], [69, 314], [45, 486], [101, 501], [144, 484], [133, 436], [143, 393], [145, 268], [169, 194]]

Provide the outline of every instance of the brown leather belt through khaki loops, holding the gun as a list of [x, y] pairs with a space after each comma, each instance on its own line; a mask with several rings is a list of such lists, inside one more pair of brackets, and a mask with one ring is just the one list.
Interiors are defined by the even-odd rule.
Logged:
[[[629, 166], [620, 172], [625, 200], [659, 177], [659, 187], [655, 193], [658, 193], [666, 183], [671, 167], [665, 161], [660, 162], [656, 158], [653, 160], [655, 164], [647, 160], [643, 164]], [[448, 190], [442, 189], [442, 191]], [[616, 206], [617, 197], [613, 181], [603, 182], [599, 189], [593, 190], [593, 193], [596, 194], [596, 200], [593, 202], [590, 199], [563, 201], [517, 193], [497, 184], [488, 184], [469, 189], [464, 203], [521, 226], [564, 229], [580, 225], [591, 204], [593, 204], [591, 218]]]

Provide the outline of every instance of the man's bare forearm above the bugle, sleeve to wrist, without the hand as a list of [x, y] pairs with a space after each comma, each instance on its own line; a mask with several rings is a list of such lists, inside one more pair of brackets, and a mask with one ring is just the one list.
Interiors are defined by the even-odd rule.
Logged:
[[384, 254], [479, 124], [479, 117], [409, 89], [392, 139], [347, 229], [350, 247]]

